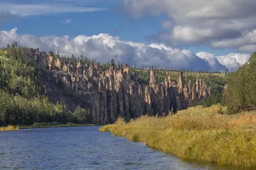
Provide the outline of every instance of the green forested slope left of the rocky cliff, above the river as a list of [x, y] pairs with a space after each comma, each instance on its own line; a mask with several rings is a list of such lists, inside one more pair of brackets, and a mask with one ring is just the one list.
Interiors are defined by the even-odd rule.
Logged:
[[54, 104], [40, 83], [42, 69], [29, 58], [28, 48], [13, 43], [0, 50], [0, 126], [35, 122], [88, 122], [88, 111], [68, 110], [63, 100]]

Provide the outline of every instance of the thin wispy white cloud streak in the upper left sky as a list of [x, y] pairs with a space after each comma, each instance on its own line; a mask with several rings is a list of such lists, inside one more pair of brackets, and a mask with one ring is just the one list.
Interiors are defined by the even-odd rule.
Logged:
[[90, 11], [104, 11], [105, 8], [93, 8], [86, 6], [74, 6], [70, 3], [41, 3], [41, 4], [20, 4], [1, 3], [0, 10], [8, 10], [12, 15], [26, 17], [31, 15], [54, 15], [58, 13], [81, 13]]

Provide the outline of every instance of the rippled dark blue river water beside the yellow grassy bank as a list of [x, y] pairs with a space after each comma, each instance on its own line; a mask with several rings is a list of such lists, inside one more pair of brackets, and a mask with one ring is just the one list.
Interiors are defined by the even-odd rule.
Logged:
[[184, 162], [98, 129], [62, 127], [0, 132], [0, 169], [228, 169]]

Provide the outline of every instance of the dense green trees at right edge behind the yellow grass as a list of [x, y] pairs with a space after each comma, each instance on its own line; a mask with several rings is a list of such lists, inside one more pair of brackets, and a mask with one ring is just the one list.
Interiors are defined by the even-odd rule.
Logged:
[[223, 97], [229, 113], [256, 110], [256, 52], [228, 78]]

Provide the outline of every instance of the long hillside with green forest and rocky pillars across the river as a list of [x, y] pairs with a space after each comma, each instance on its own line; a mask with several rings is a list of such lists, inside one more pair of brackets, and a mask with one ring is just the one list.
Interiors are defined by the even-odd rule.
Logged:
[[[0, 50], [0, 125], [108, 124], [219, 103], [223, 73], [138, 69], [8, 45]], [[190, 80], [190, 81], [189, 81]]]

